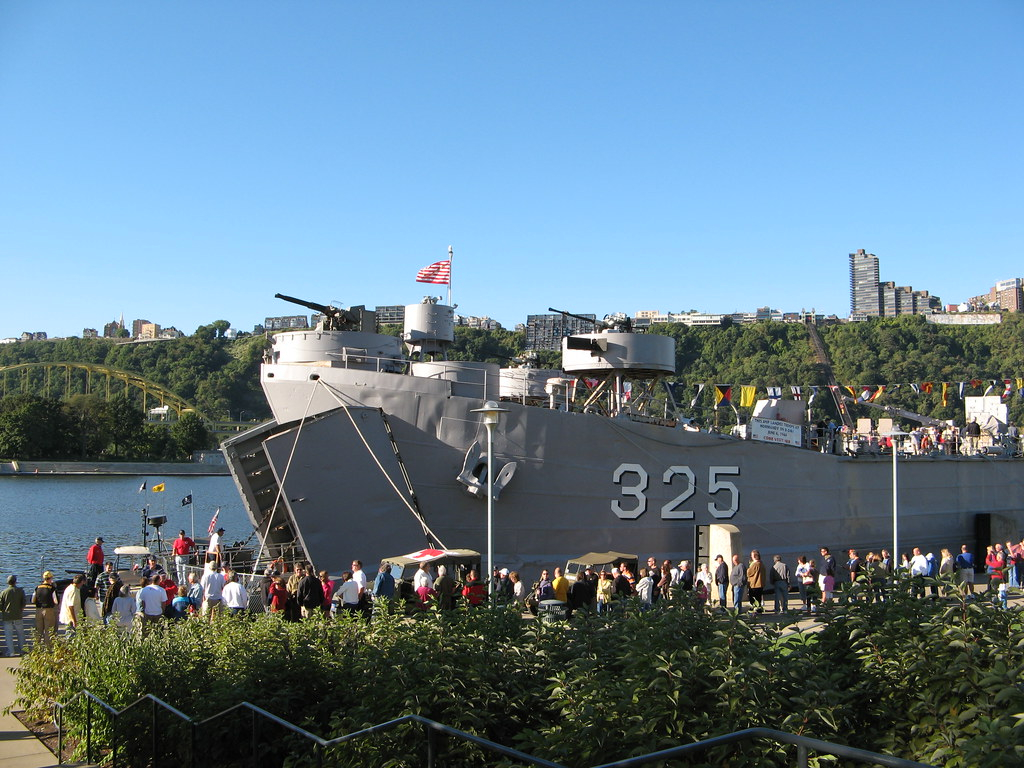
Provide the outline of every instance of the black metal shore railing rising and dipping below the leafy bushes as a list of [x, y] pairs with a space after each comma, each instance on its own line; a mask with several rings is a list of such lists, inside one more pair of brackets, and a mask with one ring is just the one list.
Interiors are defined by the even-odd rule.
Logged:
[[[253, 768], [258, 768], [260, 765], [260, 751], [258, 749], [258, 740], [260, 735], [260, 728], [258, 723], [260, 720], [267, 721], [268, 723], [273, 723], [286, 730], [294, 733], [295, 735], [301, 737], [306, 742], [311, 745], [313, 752], [313, 759], [315, 765], [318, 768], [323, 768], [324, 761], [326, 757], [327, 750], [343, 744], [347, 741], [352, 741], [365, 736], [369, 736], [375, 733], [380, 733], [383, 731], [389, 731], [401, 726], [412, 725], [420, 726], [423, 728], [423, 749], [424, 749], [424, 763], [428, 768], [434, 768], [436, 766], [438, 756], [437, 756], [437, 737], [438, 735], [447, 735], [461, 741], [475, 744], [487, 752], [495, 753], [498, 755], [503, 755], [507, 758], [512, 758], [519, 761], [523, 765], [536, 765], [536, 766], [546, 766], [547, 768], [564, 768], [560, 763], [554, 763], [550, 760], [545, 760], [543, 758], [529, 755], [524, 752], [519, 752], [518, 750], [513, 750], [512, 748], [505, 746], [504, 744], [499, 744], [495, 741], [490, 741], [486, 738], [474, 735], [472, 733], [467, 733], [466, 731], [461, 731], [457, 728], [452, 728], [444, 725], [443, 723], [438, 723], [434, 720], [430, 720], [419, 715], [406, 715], [404, 717], [396, 718], [395, 720], [390, 720], [386, 723], [380, 723], [378, 725], [370, 726], [369, 728], [364, 728], [361, 730], [355, 731], [353, 733], [347, 733], [343, 736], [338, 736], [336, 738], [323, 738], [317, 736], [315, 733], [301, 728], [287, 720], [278, 717], [276, 715], [267, 712], [266, 710], [257, 707], [255, 705], [249, 703], [248, 701], [242, 701], [233, 707], [229, 707], [222, 712], [212, 715], [211, 717], [205, 718], [203, 720], [198, 720], [196, 718], [189, 718], [187, 715], [182, 713], [180, 710], [175, 709], [166, 701], [162, 701], [156, 696], [146, 694], [139, 697], [132, 703], [128, 705], [123, 710], [116, 710], [105, 701], [101, 700], [93, 693], [88, 690], [81, 690], [72, 696], [68, 701], [63, 703], [53, 702], [54, 709], [54, 722], [57, 727], [57, 764], [63, 764], [63, 713], [65, 710], [72, 707], [80, 699], [85, 700], [86, 707], [86, 722], [85, 722], [85, 759], [86, 762], [92, 762], [93, 758], [93, 739], [92, 739], [92, 709], [93, 705], [98, 707], [102, 713], [109, 717], [114, 726], [113, 730], [116, 731], [118, 718], [133, 713], [137, 708], [142, 708], [146, 702], [150, 703], [150, 717], [148, 717], [148, 728], [151, 732], [146, 734], [148, 737], [145, 741], [148, 742], [151, 755], [150, 758], [153, 766], [160, 764], [162, 757], [162, 749], [166, 749], [167, 744], [162, 743], [161, 728], [158, 723], [158, 715], [160, 711], [168, 713], [172, 717], [176, 718], [179, 723], [187, 727], [188, 735], [185, 739], [187, 744], [187, 754], [176, 755], [174, 758], [174, 765], [179, 766], [179, 768], [200, 768], [204, 763], [201, 761], [199, 756], [199, 742], [200, 742], [200, 729], [211, 726], [212, 724], [220, 721], [222, 718], [230, 716], [237, 712], [248, 712], [250, 715], [250, 728], [249, 728], [249, 759], [251, 760], [251, 765]], [[602, 763], [594, 768], [631, 768], [632, 766], [641, 766], [647, 763], [653, 763], [657, 761], [665, 761], [677, 758], [695, 757], [700, 755], [708, 750], [725, 746], [728, 744], [748, 744], [754, 742], [758, 739], [767, 739], [777, 743], [792, 744], [797, 748], [796, 763], [795, 765], [799, 768], [807, 768], [808, 759], [811, 753], [818, 755], [831, 755], [838, 758], [844, 758], [847, 760], [852, 760], [857, 763], [863, 763], [866, 765], [881, 765], [890, 766], [891, 768], [930, 768], [925, 763], [916, 763], [910, 760], [904, 760], [903, 758], [893, 757], [891, 755], [882, 755], [874, 752], [868, 752], [867, 750], [860, 750], [855, 746], [848, 746], [846, 744], [834, 743], [831, 741], [823, 741], [817, 738], [810, 738], [808, 736], [798, 735], [796, 733], [786, 733], [785, 731], [778, 731], [772, 728], [746, 728], [741, 731], [735, 731], [733, 733], [727, 733], [722, 736], [714, 736], [712, 738], [707, 738], [702, 741], [697, 741], [689, 744], [682, 744], [680, 746], [673, 746], [668, 750], [659, 750], [658, 752], [648, 753], [646, 755], [640, 755], [638, 757], [628, 758], [626, 760], [618, 760], [612, 763]], [[112, 743], [105, 746], [106, 755], [101, 757], [105, 759], [109, 757], [111, 759], [112, 768], [117, 768], [118, 757], [119, 757], [119, 743], [115, 737]], [[136, 754], [136, 757], [141, 757]], [[100, 761], [101, 762], [101, 761]], [[242, 762], [240, 756], [240, 762]]]

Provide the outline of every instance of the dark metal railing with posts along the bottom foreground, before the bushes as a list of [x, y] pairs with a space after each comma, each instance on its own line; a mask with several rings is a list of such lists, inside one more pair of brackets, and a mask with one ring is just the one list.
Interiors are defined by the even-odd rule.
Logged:
[[[260, 765], [261, 754], [266, 757], [265, 748], [263, 748], [261, 753], [261, 736], [262, 740], [267, 740], [266, 726], [273, 724], [300, 737], [308, 743], [309, 749], [312, 752], [313, 763], [321, 768], [326, 764], [332, 764], [334, 762], [334, 756], [329, 755], [329, 751], [335, 748], [340, 748], [348, 741], [354, 741], [375, 733], [381, 733], [402, 727], [412, 727], [414, 729], [418, 728], [422, 730], [421, 743], [424, 753], [423, 764], [428, 766], [428, 768], [434, 768], [434, 766], [443, 764], [443, 759], [438, 756], [438, 737], [441, 735], [449, 736], [450, 738], [454, 738], [459, 741], [475, 744], [481, 750], [495, 755], [502, 755], [506, 758], [511, 758], [522, 765], [545, 766], [546, 768], [564, 768], [564, 766], [560, 763], [545, 760], [544, 758], [539, 758], [519, 750], [514, 750], [510, 746], [497, 743], [496, 741], [477, 736], [473, 733], [467, 733], [466, 731], [453, 728], [444, 725], [443, 723], [438, 723], [435, 720], [430, 720], [429, 718], [419, 715], [406, 715], [394, 720], [389, 720], [385, 723], [379, 723], [352, 733], [346, 733], [344, 735], [328, 739], [323, 738], [322, 736], [318, 736], [301, 726], [295, 725], [294, 723], [291, 723], [271, 712], [267, 712], [261, 707], [250, 703], [249, 701], [240, 701], [239, 703], [218, 712], [215, 715], [199, 719], [185, 715], [177, 708], [151, 694], [140, 696], [124, 709], [118, 710], [100, 699], [88, 689], [83, 689], [78, 693], [75, 693], [67, 701], [52, 702], [53, 722], [57, 729], [58, 765], [63, 764], [63, 745], [66, 736], [65, 713], [73, 707], [82, 707], [85, 710], [83, 739], [85, 746], [84, 757], [86, 762], [92, 762], [94, 758], [97, 763], [108, 763], [109, 761], [112, 768], [117, 768], [117, 766], [121, 764], [120, 759], [123, 757], [123, 753], [127, 752], [126, 744], [123, 743], [123, 741], [126, 741], [127, 739], [118, 738], [117, 727], [118, 721], [124, 717], [132, 718], [132, 720], [130, 720], [130, 733], [133, 740], [132, 746], [134, 746], [135, 751], [131, 753], [129, 760], [137, 763], [140, 758], [143, 758], [143, 756], [139, 754], [139, 750], [144, 749], [150, 752], [150, 765], [154, 766], [161, 763], [166, 764], [168, 758], [173, 761], [174, 765], [180, 766], [181, 768], [200, 768], [201, 766], [207, 765], [208, 761], [204, 760], [204, 758], [208, 757], [208, 751], [205, 749], [207, 744], [205, 744], [203, 740], [204, 737], [206, 737], [215, 738], [220, 748], [230, 750], [233, 762], [237, 762], [240, 765], [249, 763], [253, 766], [253, 768], [258, 768]], [[173, 718], [178, 725], [178, 728], [169, 728], [168, 723], [161, 723], [162, 715], [165, 721], [168, 716]], [[246, 717], [249, 721], [248, 728], [239, 727], [240, 724], [238, 717], [240, 715], [242, 717], [248, 716]], [[98, 734], [93, 733], [93, 720], [96, 717], [106, 718], [109, 720], [111, 726], [106, 730], [106, 733], [110, 734], [109, 743], [97, 743]], [[225, 718], [228, 720], [225, 720]], [[186, 729], [184, 738], [181, 738], [180, 732], [169, 733], [169, 731], [179, 731], [181, 727]], [[211, 733], [211, 731], [215, 728], [217, 729], [216, 732]], [[225, 738], [229, 738], [231, 734], [240, 733], [246, 733], [246, 735], [241, 736], [239, 743], [225, 744]], [[850, 746], [848, 744], [840, 744], [796, 733], [779, 731], [773, 728], [760, 727], [746, 728], [732, 733], [713, 736], [711, 738], [703, 739], [702, 741], [680, 744], [678, 746], [651, 752], [646, 755], [616, 760], [610, 763], [602, 763], [593, 766], [593, 768], [632, 768], [632, 766], [643, 766], [666, 760], [695, 758], [709, 750], [730, 745], [735, 745], [738, 750], [746, 748], [753, 751], [757, 749], [756, 742], [762, 740], [773, 741], [779, 744], [791, 744], [795, 746], [793, 765], [798, 766], [799, 768], [807, 768], [811, 754], [830, 755], [864, 765], [881, 765], [889, 766], [891, 768], [929, 768], [928, 764], [913, 762], [892, 755], [883, 755], [880, 753], [869, 752], [867, 750], [861, 750], [856, 746]], [[248, 755], [241, 752], [245, 742], [248, 742]], [[292, 750], [292, 754], [295, 754], [294, 750]], [[344, 760], [343, 755], [338, 755], [337, 757]]]

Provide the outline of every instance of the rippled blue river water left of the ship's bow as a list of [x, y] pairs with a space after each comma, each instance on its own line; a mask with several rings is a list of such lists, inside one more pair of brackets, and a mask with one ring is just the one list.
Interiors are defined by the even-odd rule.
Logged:
[[[140, 492], [143, 481], [146, 489]], [[153, 493], [161, 482], [166, 489]], [[191, 508], [181, 505], [189, 494]], [[167, 517], [161, 532], [168, 544], [182, 528], [190, 535], [194, 518], [194, 538], [203, 542], [218, 507], [225, 543], [245, 541], [252, 525], [229, 476], [0, 476], [0, 589], [10, 573], [31, 589], [42, 570], [57, 578], [66, 569], [85, 570], [86, 552], [97, 536], [111, 559], [115, 547], [141, 544], [143, 509], [148, 517]], [[154, 547], [154, 529], [148, 532]]]

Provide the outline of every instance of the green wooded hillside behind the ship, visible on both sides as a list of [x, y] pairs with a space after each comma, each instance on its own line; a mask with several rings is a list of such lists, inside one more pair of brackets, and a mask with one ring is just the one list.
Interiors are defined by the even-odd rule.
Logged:
[[[90, 362], [116, 368], [153, 381], [194, 403], [211, 419], [233, 420], [243, 413], [247, 420], [269, 418], [259, 385], [259, 364], [267, 340], [263, 336], [229, 339], [226, 321], [202, 326], [191, 336], [147, 343], [118, 343], [109, 339], [58, 339], [0, 345], [0, 368], [23, 362]], [[400, 329], [388, 326], [386, 333]], [[816, 358], [808, 329], [800, 324], [770, 321], [721, 328], [693, 328], [680, 324], [655, 326], [653, 333], [676, 342], [678, 404], [688, 416], [706, 423], [721, 419], [729, 423], [729, 409], [713, 411], [710, 385], [805, 388], [827, 383], [825, 367]], [[1014, 393], [1008, 398], [1010, 418], [1024, 420], [1024, 398], [1018, 396], [1016, 379], [1024, 378], [1024, 317], [1004, 315], [993, 326], [940, 326], [920, 315], [878, 318], [866, 323], [841, 324], [819, 329], [833, 370], [840, 384], [855, 387], [886, 385], [876, 400], [937, 419], [963, 423], [964, 403], [956, 394], [959, 382], [968, 382], [967, 395], [982, 394], [992, 382], [1002, 391], [1010, 379]], [[483, 331], [457, 328], [450, 359], [514, 365], [524, 357], [525, 335], [521, 331]], [[560, 355], [541, 351], [535, 365], [558, 369]], [[42, 374], [26, 381], [29, 374], [2, 374], [0, 398], [0, 456], [4, 458], [161, 458], [180, 456], [195, 438], [172, 439], [166, 426], [146, 422], [139, 394], [129, 390], [124, 399], [101, 399], [86, 392], [86, 380], [62, 380], [48, 389]], [[19, 378], [20, 377], [20, 378]], [[914, 391], [911, 384], [933, 383], [932, 391]], [[941, 383], [950, 384], [942, 402]], [[693, 408], [690, 398], [697, 385], [709, 388]], [[898, 388], [893, 385], [900, 384]], [[972, 384], [977, 384], [973, 386]], [[60, 391], [56, 391], [56, 387]], [[93, 384], [95, 387], [95, 384]], [[857, 390], [855, 390], [857, 391]], [[859, 391], [858, 391], [859, 393]], [[738, 400], [738, 397], [736, 397]], [[131, 418], [127, 412], [134, 410]], [[854, 416], [878, 412], [854, 406]], [[819, 390], [811, 418], [837, 417], [836, 403]], [[185, 421], [187, 426], [188, 421]], [[98, 428], [96, 425], [102, 425]], [[177, 427], [178, 431], [184, 429]], [[207, 437], [209, 441], [209, 437]], [[209, 447], [197, 445], [196, 450]]]

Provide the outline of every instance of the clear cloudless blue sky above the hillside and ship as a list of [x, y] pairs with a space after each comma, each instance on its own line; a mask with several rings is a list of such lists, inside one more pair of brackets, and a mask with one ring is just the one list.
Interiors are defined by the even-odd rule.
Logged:
[[0, 3], [0, 337], [1024, 276], [1024, 3]]

